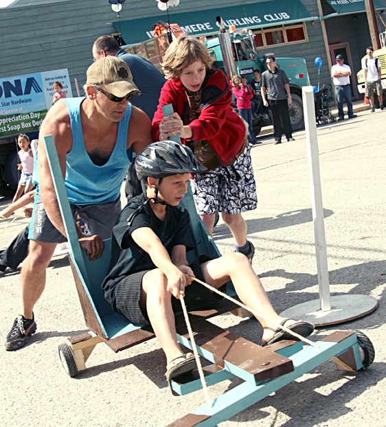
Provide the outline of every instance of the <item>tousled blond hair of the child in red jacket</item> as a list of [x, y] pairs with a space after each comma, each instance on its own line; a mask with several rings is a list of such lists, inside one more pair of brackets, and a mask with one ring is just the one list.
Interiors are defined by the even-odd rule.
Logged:
[[163, 73], [166, 78], [179, 78], [181, 71], [196, 61], [203, 62], [207, 70], [212, 67], [207, 47], [196, 38], [181, 36], [166, 51], [162, 64]]

